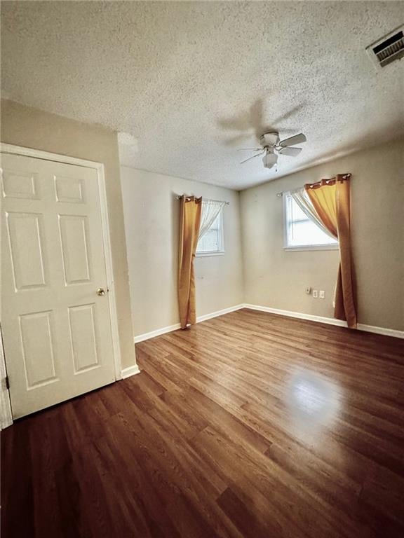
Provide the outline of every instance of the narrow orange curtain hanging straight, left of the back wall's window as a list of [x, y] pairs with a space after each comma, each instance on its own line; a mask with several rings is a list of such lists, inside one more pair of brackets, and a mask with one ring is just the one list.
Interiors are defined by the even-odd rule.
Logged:
[[201, 226], [202, 198], [182, 196], [180, 251], [178, 264], [178, 305], [181, 329], [196, 323], [194, 258]]

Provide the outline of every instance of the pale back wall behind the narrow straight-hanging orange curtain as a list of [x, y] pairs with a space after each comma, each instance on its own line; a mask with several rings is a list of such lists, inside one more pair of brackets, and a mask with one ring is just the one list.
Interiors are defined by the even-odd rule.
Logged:
[[222, 256], [197, 257], [196, 315], [243, 302], [239, 196], [226, 188], [121, 168], [133, 331], [135, 335], [179, 322], [177, 251], [180, 202], [187, 193], [227, 200]]

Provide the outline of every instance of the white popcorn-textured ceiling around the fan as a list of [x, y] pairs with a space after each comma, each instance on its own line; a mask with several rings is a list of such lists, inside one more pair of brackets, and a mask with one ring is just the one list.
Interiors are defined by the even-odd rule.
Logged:
[[[245, 188], [404, 132], [404, 60], [365, 47], [404, 2], [1, 2], [3, 95], [130, 133], [123, 163]], [[279, 171], [257, 135], [307, 135]]]

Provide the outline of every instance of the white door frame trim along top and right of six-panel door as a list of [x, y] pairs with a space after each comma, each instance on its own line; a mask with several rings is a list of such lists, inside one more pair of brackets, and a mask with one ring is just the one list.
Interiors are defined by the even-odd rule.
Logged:
[[[112, 250], [111, 250], [111, 237], [109, 236], [109, 219], [108, 219], [108, 207], [107, 207], [107, 191], [105, 188], [105, 173], [104, 165], [102, 163], [96, 163], [93, 160], [85, 160], [77, 157], [70, 157], [67, 155], [59, 155], [58, 153], [49, 153], [48, 151], [41, 151], [39, 149], [25, 148], [22, 146], [14, 146], [13, 144], [4, 144], [0, 142], [0, 153], [12, 153], [13, 155], [20, 155], [23, 157], [32, 157], [36, 159], [51, 160], [56, 163], [63, 163], [66, 165], [76, 165], [85, 168], [92, 168], [97, 172], [98, 191], [100, 193], [100, 210], [101, 210], [101, 223], [102, 223], [102, 242], [104, 245], [105, 254], [105, 272], [107, 276], [108, 287], [108, 301], [109, 312], [111, 317], [111, 332], [112, 332], [112, 352], [114, 354], [114, 370], [115, 380], [122, 379], [121, 373], [121, 347], [119, 345], [119, 329], [118, 329], [118, 315], [116, 312], [116, 294], [114, 285], [114, 271], [112, 265]], [[7, 362], [7, 361], [6, 361]]]

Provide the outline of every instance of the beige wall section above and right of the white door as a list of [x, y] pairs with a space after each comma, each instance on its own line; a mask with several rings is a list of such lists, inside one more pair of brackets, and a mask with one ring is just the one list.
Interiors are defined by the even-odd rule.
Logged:
[[135, 350], [116, 133], [1, 100], [1, 142], [94, 160], [105, 165], [122, 367], [132, 366], [135, 364]]

